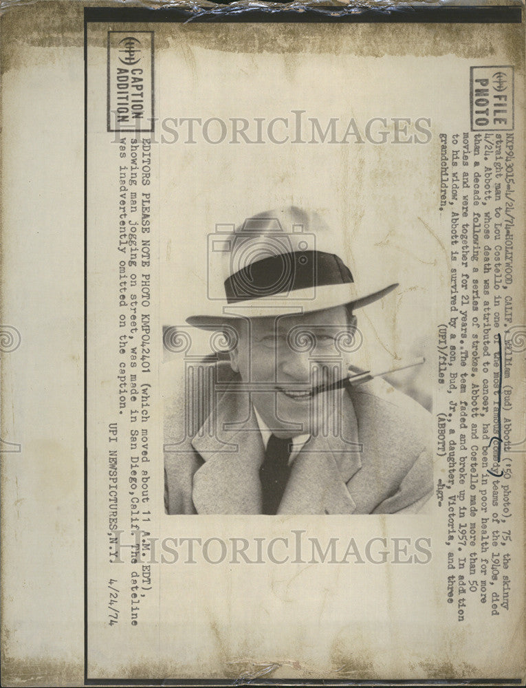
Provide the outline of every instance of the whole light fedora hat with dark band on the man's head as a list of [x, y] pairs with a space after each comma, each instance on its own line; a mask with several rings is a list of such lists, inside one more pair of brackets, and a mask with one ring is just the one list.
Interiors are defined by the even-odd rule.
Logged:
[[208, 255], [219, 256], [221, 286], [210, 289], [215, 272], [210, 263], [208, 308], [186, 322], [208, 330], [232, 318], [303, 314], [347, 304], [362, 308], [398, 286], [360, 292], [340, 257], [343, 252], [335, 252], [343, 236], [331, 231], [320, 214], [296, 206], [259, 213], [236, 228], [218, 226], [208, 237]]

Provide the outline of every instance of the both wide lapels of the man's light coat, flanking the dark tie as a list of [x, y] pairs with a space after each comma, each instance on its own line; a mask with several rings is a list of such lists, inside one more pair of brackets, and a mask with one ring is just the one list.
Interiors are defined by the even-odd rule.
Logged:
[[[278, 509], [281, 514], [351, 514], [355, 502], [346, 483], [362, 467], [358, 423], [351, 399], [342, 395], [339, 433], [312, 437], [292, 463]], [[337, 411], [338, 412], [338, 411]], [[248, 395], [227, 392], [192, 444], [204, 464], [193, 482], [197, 513], [260, 514], [259, 468], [265, 457], [261, 431]], [[236, 430], [228, 424], [241, 423]]]

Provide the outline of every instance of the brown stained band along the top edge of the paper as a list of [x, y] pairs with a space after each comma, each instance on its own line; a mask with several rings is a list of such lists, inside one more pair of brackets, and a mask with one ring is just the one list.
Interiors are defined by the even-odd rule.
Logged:
[[[199, 3], [204, 10], [214, 3]], [[237, 3], [239, 4], [239, 3]], [[269, 4], [269, 3], [267, 3]], [[316, 3], [311, 3], [315, 5]], [[324, 3], [325, 4], [325, 3]], [[334, 3], [341, 6], [341, 3]], [[390, 3], [392, 7], [396, 3]], [[309, 3], [305, 3], [307, 7]], [[382, 7], [386, 3], [369, 3]], [[121, 2], [45, 2], [21, 5], [0, 4], [2, 71], [16, 69], [28, 61], [25, 46], [83, 47], [83, 8], [97, 6], [123, 7]], [[197, 10], [197, 3], [142, 3], [127, 1], [127, 8], [179, 7]], [[261, 4], [259, 4], [261, 6]], [[281, 7], [278, 4], [276, 8]], [[299, 3], [291, 3], [298, 9]], [[225, 6], [217, 6], [224, 11]], [[239, 11], [239, 10], [238, 10]], [[100, 25], [99, 25], [100, 26]], [[133, 23], [120, 23], [133, 28]], [[443, 56], [482, 58], [499, 54], [507, 63], [523, 67], [524, 30], [520, 24], [390, 24], [390, 23], [143, 23], [142, 30], [155, 32], [156, 50], [172, 49], [173, 41], [184, 41], [188, 47], [201, 47], [218, 52], [259, 54], [353, 54], [358, 56]], [[105, 32], [88, 31], [90, 45], [101, 45]], [[97, 34], [97, 35], [95, 35]], [[177, 35], [175, 35], [177, 34]], [[503, 55], [504, 54], [504, 55]]]

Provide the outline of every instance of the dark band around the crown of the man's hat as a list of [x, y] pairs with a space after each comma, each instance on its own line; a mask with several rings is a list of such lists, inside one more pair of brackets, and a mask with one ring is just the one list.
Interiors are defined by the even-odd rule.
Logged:
[[225, 281], [228, 303], [286, 296], [298, 289], [351, 284], [351, 270], [333, 253], [294, 251], [263, 258]]

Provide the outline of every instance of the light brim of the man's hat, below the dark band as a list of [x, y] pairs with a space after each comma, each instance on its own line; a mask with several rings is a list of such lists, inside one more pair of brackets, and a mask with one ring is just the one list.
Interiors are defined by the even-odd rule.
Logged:
[[186, 318], [188, 325], [210, 330], [211, 327], [222, 327], [226, 321], [243, 318], [269, 318], [281, 315], [312, 313], [318, 310], [336, 308], [338, 305], [352, 304], [353, 308], [363, 308], [397, 288], [398, 283], [390, 284], [383, 289], [369, 294], [353, 294], [353, 284], [338, 284], [318, 287], [313, 296], [312, 289], [300, 289], [290, 292], [286, 297], [263, 297], [238, 303], [211, 301], [210, 312]]

